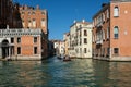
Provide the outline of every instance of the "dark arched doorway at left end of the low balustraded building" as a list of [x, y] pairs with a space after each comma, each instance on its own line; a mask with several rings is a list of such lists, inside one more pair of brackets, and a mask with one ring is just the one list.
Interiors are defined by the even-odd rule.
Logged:
[[7, 39], [4, 39], [2, 41], [2, 58], [5, 59], [7, 57], [9, 57], [9, 41]]

